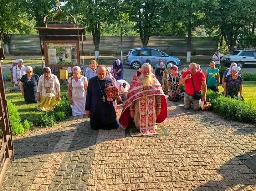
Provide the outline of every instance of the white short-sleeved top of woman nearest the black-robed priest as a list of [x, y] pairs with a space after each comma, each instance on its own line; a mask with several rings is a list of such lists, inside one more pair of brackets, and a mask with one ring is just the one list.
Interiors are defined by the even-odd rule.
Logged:
[[84, 83], [87, 82], [87, 78], [82, 76], [78, 81], [69, 78], [68, 83], [71, 83], [72, 81], [72, 97], [81, 98], [86, 96], [86, 91], [84, 88]]

